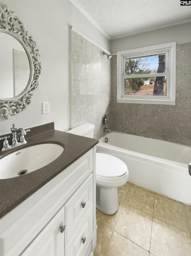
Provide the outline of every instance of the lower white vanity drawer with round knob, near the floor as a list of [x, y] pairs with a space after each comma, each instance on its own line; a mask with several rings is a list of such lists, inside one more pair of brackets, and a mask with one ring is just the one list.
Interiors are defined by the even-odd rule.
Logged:
[[[70, 239], [70, 242], [65, 247], [65, 256], [81, 256], [87, 249], [90, 238], [93, 233], [93, 205], [84, 216], [81, 224]], [[85, 239], [84, 243], [82, 238]]]

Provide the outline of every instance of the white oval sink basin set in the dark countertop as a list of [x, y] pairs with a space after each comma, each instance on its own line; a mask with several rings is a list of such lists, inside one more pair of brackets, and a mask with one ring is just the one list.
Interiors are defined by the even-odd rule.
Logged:
[[50, 164], [64, 148], [58, 144], [38, 144], [25, 147], [0, 159], [0, 179], [17, 177]]

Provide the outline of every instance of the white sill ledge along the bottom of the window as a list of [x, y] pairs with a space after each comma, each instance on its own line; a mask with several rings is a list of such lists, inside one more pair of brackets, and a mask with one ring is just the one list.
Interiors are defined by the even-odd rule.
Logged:
[[117, 99], [118, 103], [175, 105], [175, 100]]

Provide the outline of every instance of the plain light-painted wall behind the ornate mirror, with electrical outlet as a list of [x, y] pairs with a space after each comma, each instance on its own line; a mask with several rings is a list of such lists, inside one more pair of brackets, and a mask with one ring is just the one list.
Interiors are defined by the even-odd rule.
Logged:
[[[16, 13], [37, 43], [42, 63], [40, 86], [26, 110], [9, 120], [0, 118], [0, 134], [17, 127], [32, 127], [51, 121], [55, 129], [70, 129], [70, 26], [110, 50], [110, 41], [69, 0], [4, 0]], [[50, 113], [42, 115], [42, 102], [49, 101]]]

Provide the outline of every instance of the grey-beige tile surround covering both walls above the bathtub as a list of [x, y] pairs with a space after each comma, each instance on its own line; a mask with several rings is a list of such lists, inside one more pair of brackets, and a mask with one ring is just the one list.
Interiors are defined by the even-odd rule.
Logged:
[[[73, 128], [95, 124], [94, 138], [103, 128], [191, 145], [191, 43], [176, 46], [176, 104], [117, 103], [117, 58], [110, 60], [98, 46], [72, 31]], [[101, 124], [102, 115], [107, 126]]]

